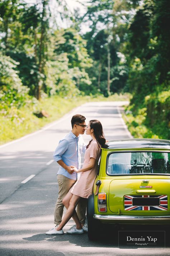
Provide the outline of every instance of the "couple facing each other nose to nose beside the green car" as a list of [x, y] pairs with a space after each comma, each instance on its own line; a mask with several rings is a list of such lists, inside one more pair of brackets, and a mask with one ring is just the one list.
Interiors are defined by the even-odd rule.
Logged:
[[[86, 199], [92, 194], [93, 183], [97, 174], [97, 164], [101, 146], [105, 144], [103, 128], [98, 120], [90, 120], [85, 124], [85, 117], [74, 115], [71, 119], [72, 131], [59, 142], [54, 159], [60, 165], [57, 173], [58, 199], [55, 207], [56, 227], [47, 231], [47, 235], [63, 234], [62, 228], [71, 219], [76, 227], [68, 234], [82, 234], [85, 230]], [[91, 136], [86, 146], [80, 134]], [[82, 168], [81, 152], [85, 152]], [[79, 173], [77, 178], [77, 173]], [[77, 181], [76, 181], [77, 180]], [[62, 219], [63, 206], [67, 211]], [[75, 208], [77, 206], [77, 212]]]

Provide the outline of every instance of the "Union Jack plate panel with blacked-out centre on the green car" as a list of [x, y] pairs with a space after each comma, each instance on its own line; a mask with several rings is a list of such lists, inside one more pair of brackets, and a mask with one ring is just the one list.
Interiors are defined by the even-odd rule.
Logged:
[[124, 209], [126, 211], [166, 211], [167, 195], [125, 195]]

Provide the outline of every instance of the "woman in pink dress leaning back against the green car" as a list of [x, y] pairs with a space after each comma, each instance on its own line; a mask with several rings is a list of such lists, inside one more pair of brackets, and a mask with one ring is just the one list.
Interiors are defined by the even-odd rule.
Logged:
[[79, 180], [76, 181], [74, 186], [71, 187], [65, 198], [63, 198], [63, 204], [67, 208], [67, 211], [61, 221], [61, 223], [55, 227], [55, 234], [63, 234], [63, 226], [71, 219], [74, 219], [76, 228], [68, 230], [68, 234], [81, 234], [83, 233], [82, 226], [75, 211], [76, 205], [80, 198], [88, 198], [92, 194], [93, 183], [97, 174], [97, 165], [100, 156], [101, 146], [105, 144], [105, 138], [103, 134], [103, 128], [98, 120], [90, 120], [88, 127], [86, 128], [86, 134], [91, 136], [91, 141], [86, 146], [86, 152], [84, 156], [84, 163], [81, 169], [75, 172], [81, 172]]

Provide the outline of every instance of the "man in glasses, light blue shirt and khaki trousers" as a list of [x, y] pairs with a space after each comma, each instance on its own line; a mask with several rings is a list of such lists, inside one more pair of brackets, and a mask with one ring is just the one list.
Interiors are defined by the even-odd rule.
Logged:
[[[77, 173], [73, 171], [76, 167], [80, 169], [81, 153], [85, 153], [86, 145], [80, 134], [84, 134], [86, 129], [85, 117], [79, 114], [72, 116], [72, 130], [62, 140], [60, 140], [53, 158], [60, 165], [57, 180], [58, 180], [58, 198], [55, 206], [54, 223], [60, 224], [63, 215], [62, 199], [69, 192], [70, 188], [77, 180]], [[77, 215], [81, 222], [84, 231], [87, 231], [85, 224], [86, 219], [86, 200], [82, 198], [77, 205]], [[63, 232], [63, 231], [62, 231]], [[55, 234], [55, 228], [46, 232], [47, 235]]]

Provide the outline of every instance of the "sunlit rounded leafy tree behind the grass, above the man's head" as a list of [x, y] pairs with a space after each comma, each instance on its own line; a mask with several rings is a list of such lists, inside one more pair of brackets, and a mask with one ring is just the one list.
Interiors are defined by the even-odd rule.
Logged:
[[[77, 89], [84, 91], [85, 87], [91, 85], [86, 70], [92, 66], [92, 59], [89, 58], [85, 48], [86, 42], [74, 28], [69, 28], [60, 31], [60, 37], [57, 37], [55, 46], [54, 53], [56, 53], [59, 58], [60, 56], [62, 56], [62, 58], [64, 57], [63, 59], [65, 60], [60, 63], [64, 68], [64, 72], [62, 71], [61, 75], [59, 65], [56, 91], [62, 93], [64, 96], [69, 94], [71, 96], [72, 93], [73, 96], [75, 96], [79, 93]], [[75, 85], [77, 89], [74, 88]]]

